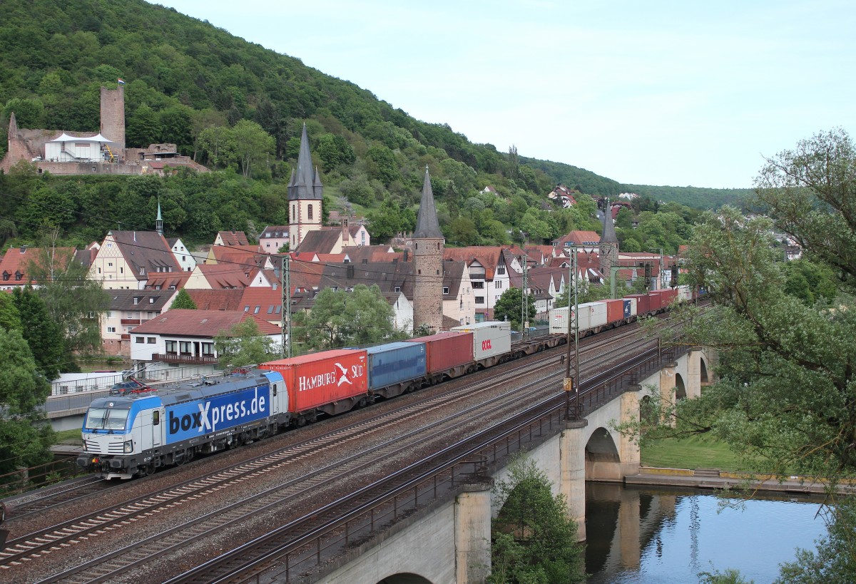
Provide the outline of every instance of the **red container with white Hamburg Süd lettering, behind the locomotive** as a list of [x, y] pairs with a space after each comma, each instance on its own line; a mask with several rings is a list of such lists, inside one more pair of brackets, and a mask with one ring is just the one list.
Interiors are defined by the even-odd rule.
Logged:
[[282, 373], [293, 414], [368, 391], [366, 351], [335, 349], [259, 365]]

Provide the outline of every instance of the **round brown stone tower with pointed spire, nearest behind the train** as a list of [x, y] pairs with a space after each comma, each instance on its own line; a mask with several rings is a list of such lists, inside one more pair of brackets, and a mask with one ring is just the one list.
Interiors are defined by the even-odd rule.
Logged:
[[425, 166], [422, 200], [413, 231], [413, 328], [428, 325], [443, 329], [443, 244], [446, 240], [437, 221], [431, 176]]

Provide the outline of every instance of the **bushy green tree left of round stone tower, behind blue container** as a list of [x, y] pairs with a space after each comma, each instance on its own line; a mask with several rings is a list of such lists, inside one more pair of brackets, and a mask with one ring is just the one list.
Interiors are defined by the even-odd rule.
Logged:
[[395, 331], [392, 317], [392, 307], [377, 284], [357, 284], [351, 292], [325, 288], [311, 313], [295, 315], [293, 332], [309, 349], [382, 343], [405, 337]]

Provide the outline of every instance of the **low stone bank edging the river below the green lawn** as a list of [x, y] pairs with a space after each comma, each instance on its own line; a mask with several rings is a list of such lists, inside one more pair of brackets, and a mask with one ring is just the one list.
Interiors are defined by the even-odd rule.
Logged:
[[[721, 472], [716, 468], [639, 468], [639, 474], [624, 477], [625, 485], [687, 486], [699, 489], [725, 489], [748, 486], [754, 491], [797, 492], [825, 494], [823, 483], [805, 477], [755, 477], [740, 473]], [[835, 489], [839, 494], [856, 494], [856, 486], [840, 485]]]

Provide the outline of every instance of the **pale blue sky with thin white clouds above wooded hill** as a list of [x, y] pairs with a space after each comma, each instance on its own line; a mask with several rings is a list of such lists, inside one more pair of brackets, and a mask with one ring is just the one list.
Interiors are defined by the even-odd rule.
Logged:
[[500, 152], [630, 184], [749, 188], [856, 135], [852, 0], [157, 0]]

